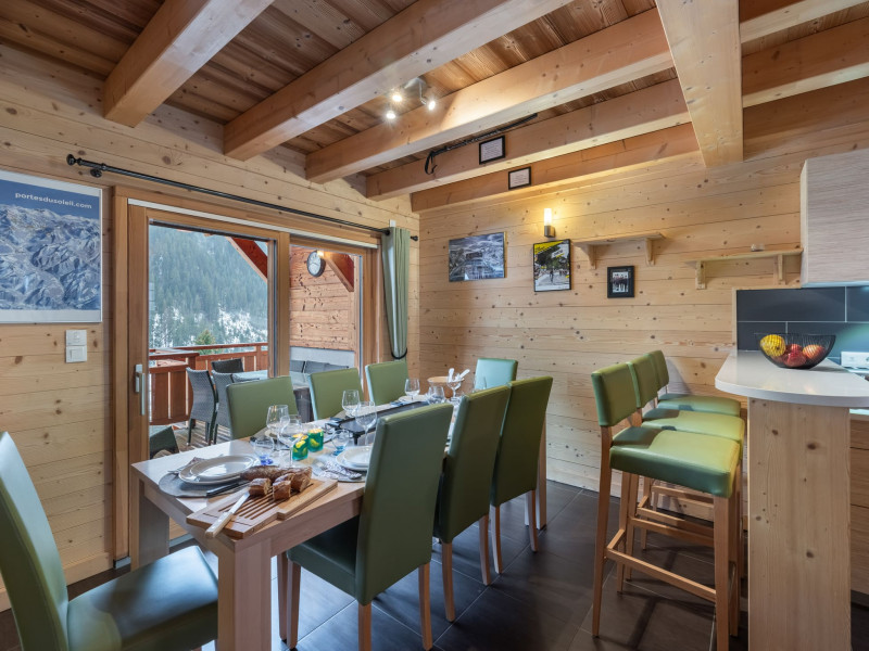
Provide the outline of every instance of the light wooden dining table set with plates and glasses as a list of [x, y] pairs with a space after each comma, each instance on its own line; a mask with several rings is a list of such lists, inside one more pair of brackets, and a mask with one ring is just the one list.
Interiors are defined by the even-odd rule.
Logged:
[[[378, 411], [389, 411], [394, 407], [378, 406]], [[314, 421], [307, 426], [311, 429], [325, 423], [325, 420]], [[312, 465], [332, 452], [333, 447], [327, 444], [297, 463]], [[167, 473], [177, 471], [194, 458], [212, 459], [229, 455], [255, 456], [249, 439], [236, 439], [131, 465], [130, 563], [136, 569], [168, 554], [172, 519], [203, 549], [217, 558], [219, 651], [268, 651], [273, 648], [272, 559], [357, 515], [365, 483], [338, 482], [335, 489], [286, 520], [274, 521], [245, 537], [232, 538], [222, 533], [207, 538], [205, 529], [188, 523], [187, 516], [217, 502], [231, 503], [247, 492], [247, 487], [211, 498], [175, 497], [162, 490], [160, 483]], [[542, 493], [538, 490], [538, 497], [542, 495], [541, 502], [545, 505], [545, 470], [538, 484], [543, 486]], [[538, 523], [545, 525], [545, 512], [541, 516], [538, 509]], [[279, 589], [286, 589], [286, 586], [279, 583]]]

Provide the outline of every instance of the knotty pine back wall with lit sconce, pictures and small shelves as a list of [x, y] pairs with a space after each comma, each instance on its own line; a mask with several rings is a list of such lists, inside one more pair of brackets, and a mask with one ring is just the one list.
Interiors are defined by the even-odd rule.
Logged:
[[[869, 82], [859, 81], [747, 110], [744, 163], [706, 169], [693, 155], [421, 213], [421, 376], [473, 369], [478, 357], [518, 359], [519, 378], [552, 375], [549, 477], [596, 490], [590, 373], [660, 348], [671, 387], [715, 394], [734, 345], [733, 289], [772, 285], [772, 260], [709, 264], [706, 290], [695, 289], [691, 260], [753, 243], [797, 246], [803, 162], [869, 146], [867, 98]], [[544, 207], [554, 212], [558, 238], [660, 231], [654, 266], [641, 242], [600, 247], [596, 269], [575, 245], [572, 290], [536, 294], [531, 245], [544, 241]], [[449, 282], [449, 240], [499, 231], [506, 233], [506, 278]], [[635, 268], [633, 298], [606, 297], [606, 267], [620, 265]], [[788, 285], [798, 284], [798, 257], [791, 258]]]

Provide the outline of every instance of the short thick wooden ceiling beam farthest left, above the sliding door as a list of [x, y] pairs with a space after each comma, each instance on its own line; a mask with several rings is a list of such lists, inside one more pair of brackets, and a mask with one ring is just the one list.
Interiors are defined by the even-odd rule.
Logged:
[[166, 0], [105, 80], [105, 118], [138, 125], [270, 3]]

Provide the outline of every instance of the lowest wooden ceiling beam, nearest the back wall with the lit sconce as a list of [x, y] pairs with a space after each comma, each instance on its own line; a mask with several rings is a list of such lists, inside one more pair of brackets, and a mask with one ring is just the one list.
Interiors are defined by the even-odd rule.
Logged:
[[696, 153], [697, 140], [694, 130], [691, 125], [680, 125], [532, 163], [532, 184], [522, 190], [508, 190], [507, 174], [499, 171], [415, 192], [411, 195], [411, 209], [423, 213], [508, 193], [524, 195], [575, 182], [582, 177], [606, 176]]

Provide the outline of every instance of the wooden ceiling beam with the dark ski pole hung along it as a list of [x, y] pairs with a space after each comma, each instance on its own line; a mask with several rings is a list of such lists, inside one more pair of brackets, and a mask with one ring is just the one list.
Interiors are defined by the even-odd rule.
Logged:
[[682, 88], [673, 79], [514, 129], [505, 137], [507, 157], [501, 161], [480, 165], [479, 148], [475, 144], [438, 156], [433, 175], [426, 174], [423, 161], [371, 175], [367, 179], [367, 196], [381, 200], [419, 192], [666, 129], [690, 119]]

